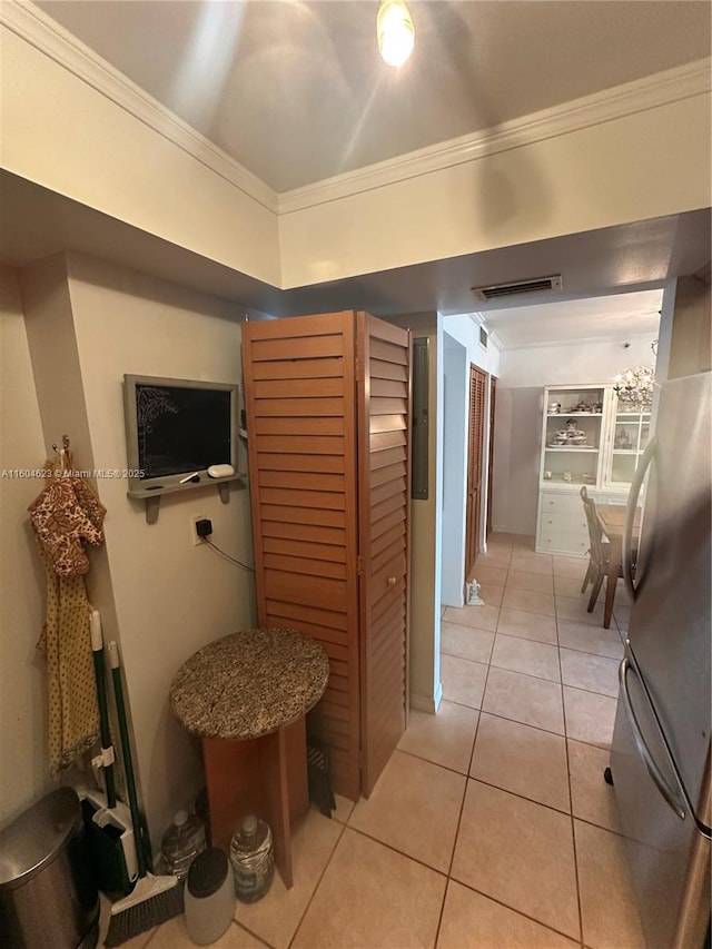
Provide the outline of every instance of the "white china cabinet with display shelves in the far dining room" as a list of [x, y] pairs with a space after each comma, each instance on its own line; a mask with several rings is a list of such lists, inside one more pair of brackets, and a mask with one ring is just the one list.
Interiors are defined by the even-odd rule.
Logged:
[[613, 386], [603, 384], [546, 386], [542, 415], [536, 550], [585, 556], [581, 487], [594, 501], [625, 503], [650, 416], [624, 415]]

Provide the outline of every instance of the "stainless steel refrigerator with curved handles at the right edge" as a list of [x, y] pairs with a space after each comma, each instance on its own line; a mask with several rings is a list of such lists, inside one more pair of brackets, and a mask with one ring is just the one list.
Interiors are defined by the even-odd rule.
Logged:
[[611, 771], [651, 949], [710, 941], [711, 416], [710, 373], [665, 383], [629, 498], [647, 472]]

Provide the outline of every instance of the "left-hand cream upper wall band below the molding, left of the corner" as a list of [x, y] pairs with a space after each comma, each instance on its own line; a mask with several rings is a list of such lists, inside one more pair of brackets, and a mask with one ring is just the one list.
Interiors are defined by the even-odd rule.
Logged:
[[6, 27], [0, 41], [3, 168], [279, 284], [274, 210]]

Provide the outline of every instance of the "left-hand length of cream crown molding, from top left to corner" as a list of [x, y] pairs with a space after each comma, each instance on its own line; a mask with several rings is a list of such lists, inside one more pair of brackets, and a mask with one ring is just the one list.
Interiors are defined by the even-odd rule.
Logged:
[[131, 82], [29, 0], [0, 0], [0, 23], [273, 214], [277, 192]]

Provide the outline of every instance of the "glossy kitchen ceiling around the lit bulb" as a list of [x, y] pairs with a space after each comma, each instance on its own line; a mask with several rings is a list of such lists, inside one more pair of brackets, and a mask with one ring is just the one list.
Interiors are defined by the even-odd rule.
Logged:
[[37, 6], [285, 191], [710, 55], [689, 0], [413, 0], [385, 66], [377, 0], [46, 0]]

